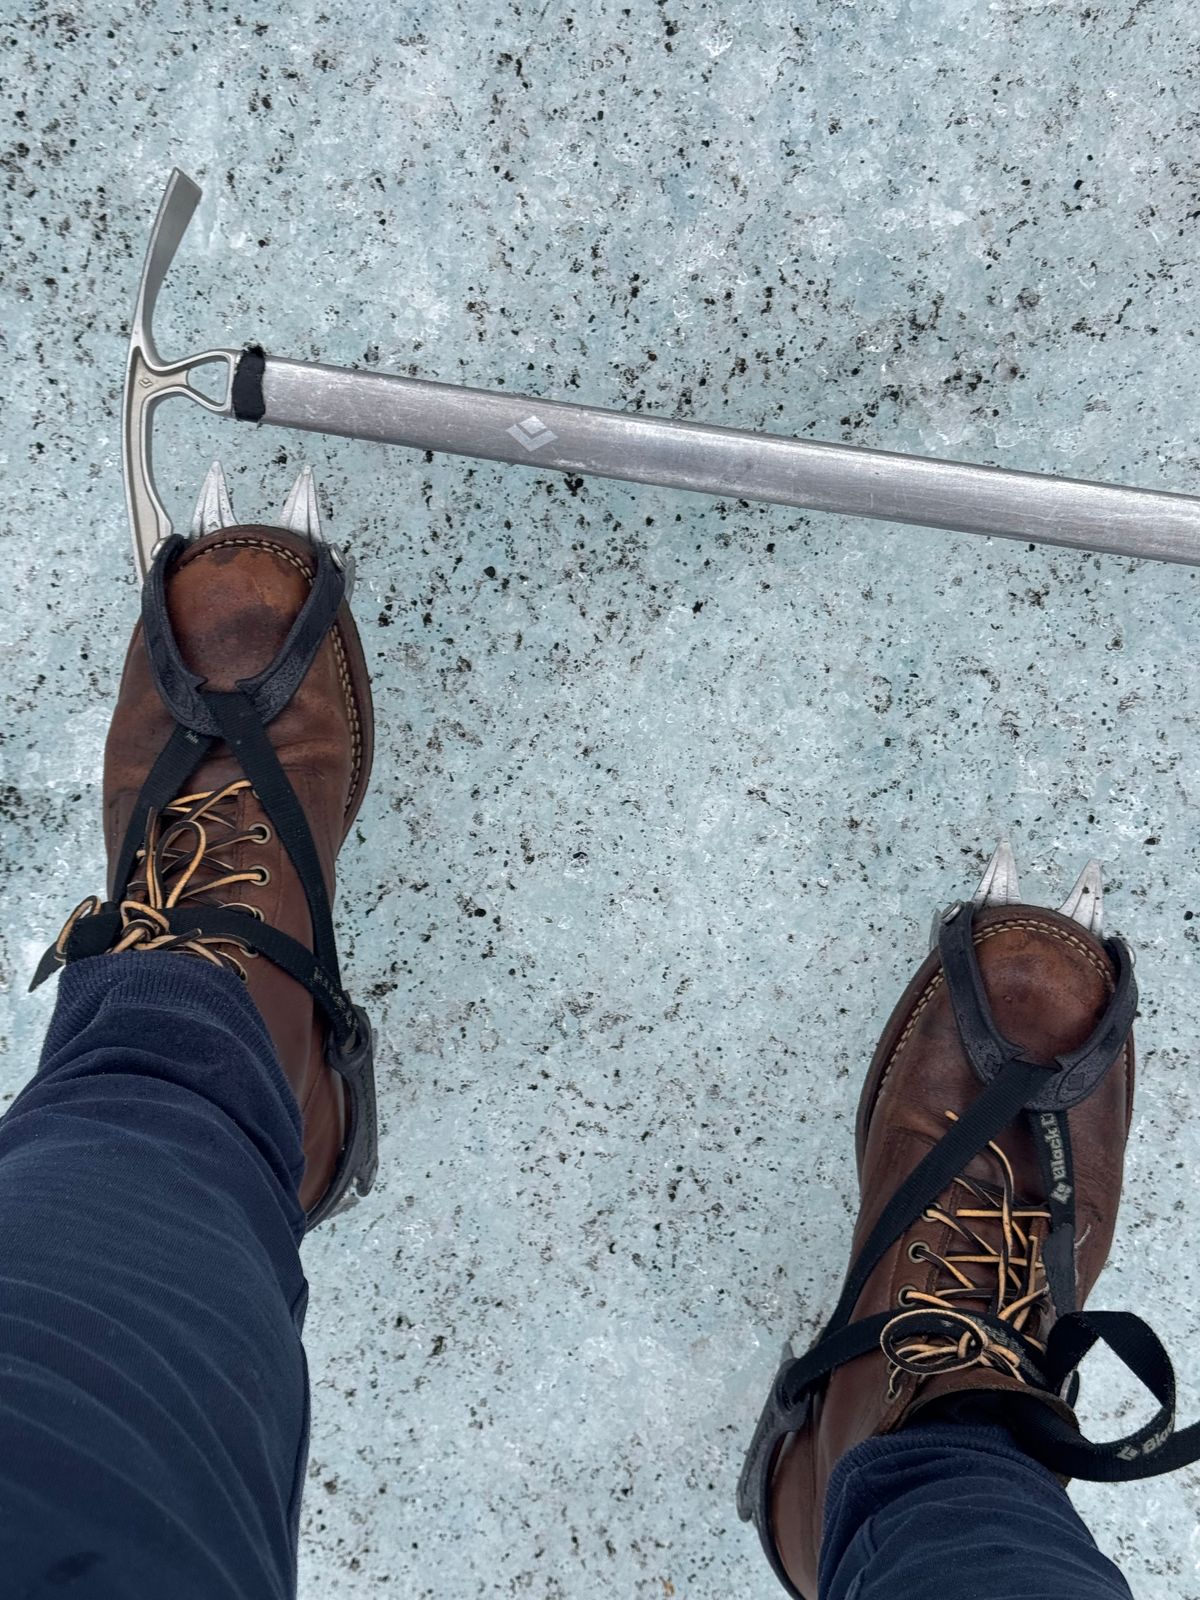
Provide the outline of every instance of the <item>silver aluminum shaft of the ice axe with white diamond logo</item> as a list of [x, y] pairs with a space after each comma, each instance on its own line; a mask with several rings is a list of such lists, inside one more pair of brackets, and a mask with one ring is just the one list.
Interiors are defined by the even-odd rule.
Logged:
[[541, 470], [1200, 565], [1200, 499], [267, 357], [262, 421]]

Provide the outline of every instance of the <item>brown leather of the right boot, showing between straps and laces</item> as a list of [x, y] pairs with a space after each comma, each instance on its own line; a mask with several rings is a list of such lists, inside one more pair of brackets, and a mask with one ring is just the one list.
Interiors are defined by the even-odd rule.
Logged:
[[[1104, 1014], [1114, 992], [1112, 962], [1077, 922], [1034, 906], [989, 907], [976, 914], [974, 947], [997, 1027], [1038, 1059], [1077, 1048]], [[1075, 1158], [1075, 1269], [1082, 1306], [1109, 1254], [1122, 1189], [1125, 1142], [1133, 1112], [1133, 1035], [1093, 1094], [1067, 1114]], [[933, 950], [888, 1021], [867, 1074], [858, 1115], [861, 1211], [851, 1259], [880, 1213], [917, 1163], [949, 1128], [946, 1112], [962, 1114], [981, 1093], [958, 1040], [941, 957]], [[995, 1141], [1013, 1165], [1014, 1189], [1029, 1205], [1045, 1202], [1045, 1186], [1027, 1123], [1018, 1118]], [[965, 1173], [997, 1187], [990, 1154], [978, 1155]], [[941, 1203], [950, 1208], [947, 1189]], [[1048, 1224], [1034, 1222], [1045, 1237]], [[987, 1234], [987, 1224], [979, 1226]], [[918, 1243], [920, 1242], [920, 1243]], [[883, 1256], [858, 1299], [851, 1320], [899, 1310], [907, 1286], [928, 1293], [939, 1267], [909, 1254], [925, 1246], [939, 1254], [962, 1250], [949, 1227], [918, 1219]], [[941, 1275], [941, 1282], [946, 1277]], [[987, 1310], [987, 1298], [963, 1299], [965, 1310]], [[1045, 1301], [1026, 1328], [1045, 1339], [1054, 1309]], [[816, 1594], [816, 1563], [829, 1474], [853, 1445], [907, 1422], [923, 1403], [962, 1389], [1026, 1386], [992, 1368], [939, 1378], [896, 1374], [890, 1389], [883, 1350], [835, 1370], [803, 1432], [779, 1450], [773, 1478], [771, 1525], [792, 1582]], [[1046, 1398], [1046, 1403], [1054, 1403]], [[1067, 1418], [1070, 1413], [1054, 1403]]]

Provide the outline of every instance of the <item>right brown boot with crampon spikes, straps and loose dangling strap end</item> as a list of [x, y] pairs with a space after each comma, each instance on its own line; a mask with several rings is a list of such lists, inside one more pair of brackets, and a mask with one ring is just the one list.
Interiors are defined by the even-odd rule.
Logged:
[[[1122, 1189], [1130, 954], [1096, 936], [1094, 866], [1070, 915], [1013, 901], [1002, 845], [978, 902], [934, 923], [936, 947], [891, 1014], [859, 1102], [862, 1200], [842, 1299], [806, 1355], [786, 1349], [742, 1470], [738, 1509], [805, 1600], [818, 1592], [834, 1464], [934, 1403], [946, 1416], [952, 1397], [995, 1397], [1022, 1448], [1064, 1478], [1147, 1475], [1200, 1450], [1195, 1429], [1171, 1442], [1173, 1379], [1157, 1365], [1170, 1374], [1170, 1362], [1149, 1328], [1078, 1315]], [[1072, 1411], [1075, 1366], [1096, 1338], [1162, 1405], [1117, 1445], [1082, 1438]]]

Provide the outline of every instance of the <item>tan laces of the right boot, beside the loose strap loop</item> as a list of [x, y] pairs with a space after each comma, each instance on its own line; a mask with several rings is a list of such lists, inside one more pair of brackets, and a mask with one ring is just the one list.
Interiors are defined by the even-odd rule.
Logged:
[[[958, 1120], [952, 1110], [946, 1117]], [[1034, 1349], [1045, 1350], [1045, 1344], [1029, 1333], [1029, 1325], [1050, 1294], [1042, 1261], [1043, 1232], [1034, 1226], [1045, 1222], [1048, 1227], [1050, 1211], [1043, 1206], [1018, 1206], [1008, 1157], [995, 1142], [989, 1142], [987, 1149], [1000, 1171], [1000, 1190], [958, 1176], [954, 1179], [950, 1203], [946, 1208], [928, 1206], [923, 1213], [926, 1222], [949, 1227], [965, 1248], [938, 1254], [923, 1240], [909, 1246], [912, 1261], [933, 1261], [941, 1275], [928, 1291], [906, 1285], [899, 1299], [907, 1310], [893, 1317], [880, 1334], [890, 1362], [890, 1400], [899, 1394], [902, 1373], [931, 1378], [934, 1373], [992, 1366], [1013, 1378], [1022, 1376], [1021, 1341], [1014, 1339], [1011, 1347], [1002, 1342], [986, 1323], [962, 1307], [962, 1301], [982, 1302], [982, 1309], [997, 1322], [1024, 1334]], [[984, 1229], [990, 1242], [984, 1237]], [[954, 1326], [938, 1333], [915, 1330], [914, 1323], [922, 1320], [917, 1307], [942, 1312], [944, 1320]]]

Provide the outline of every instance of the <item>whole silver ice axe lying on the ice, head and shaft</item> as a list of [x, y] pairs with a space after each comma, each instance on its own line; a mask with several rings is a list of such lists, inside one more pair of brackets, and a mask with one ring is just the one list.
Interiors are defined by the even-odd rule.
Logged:
[[[200, 203], [171, 173], [146, 256], [125, 379], [125, 493], [144, 576], [171, 522], [154, 486], [150, 430], [160, 400], [189, 395], [219, 416], [342, 434], [411, 450], [509, 461], [539, 470], [658, 483], [730, 499], [1000, 534], [1083, 550], [1200, 565], [1200, 499], [973, 467], [851, 445], [819, 445], [733, 427], [533, 400], [384, 373], [286, 362], [261, 349], [205, 350], [163, 363], [152, 318], [166, 270]], [[222, 365], [224, 397], [190, 382]]]

